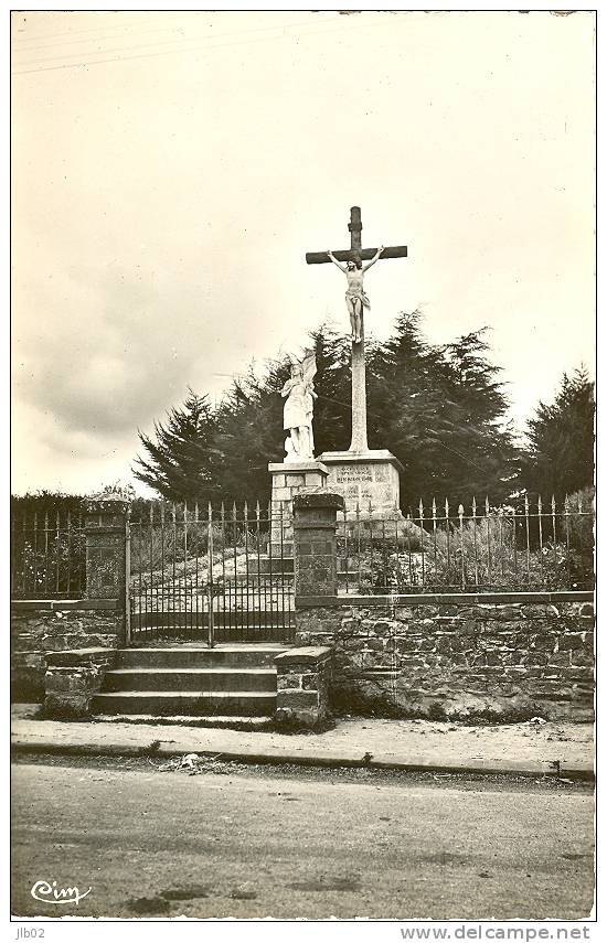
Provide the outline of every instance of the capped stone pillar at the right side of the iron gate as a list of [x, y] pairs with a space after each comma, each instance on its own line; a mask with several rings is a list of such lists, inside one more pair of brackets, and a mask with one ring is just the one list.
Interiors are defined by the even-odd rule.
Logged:
[[327, 491], [292, 500], [296, 604], [297, 597], [337, 596], [337, 512], [343, 506], [340, 494]]

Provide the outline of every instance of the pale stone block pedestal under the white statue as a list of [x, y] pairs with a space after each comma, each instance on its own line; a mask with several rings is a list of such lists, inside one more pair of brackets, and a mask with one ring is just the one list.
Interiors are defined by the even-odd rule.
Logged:
[[292, 499], [296, 494], [321, 491], [329, 472], [317, 459], [300, 462], [270, 462], [271, 551], [292, 557]]

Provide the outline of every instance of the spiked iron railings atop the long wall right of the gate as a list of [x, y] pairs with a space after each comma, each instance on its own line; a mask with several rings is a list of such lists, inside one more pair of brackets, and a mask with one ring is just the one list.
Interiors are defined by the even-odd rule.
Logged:
[[594, 510], [554, 497], [517, 506], [433, 501], [406, 516], [371, 506], [338, 515], [340, 591], [592, 589]]

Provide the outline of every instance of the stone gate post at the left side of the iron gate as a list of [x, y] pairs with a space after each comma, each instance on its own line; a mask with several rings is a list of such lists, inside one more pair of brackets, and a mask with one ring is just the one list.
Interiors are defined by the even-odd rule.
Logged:
[[119, 619], [118, 646], [127, 641], [128, 502], [102, 494], [88, 504], [85, 517], [86, 598], [115, 600]]

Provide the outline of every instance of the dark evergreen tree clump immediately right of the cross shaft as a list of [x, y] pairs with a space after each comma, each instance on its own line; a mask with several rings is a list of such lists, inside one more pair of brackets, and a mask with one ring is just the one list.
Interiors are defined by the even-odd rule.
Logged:
[[420, 315], [402, 314], [394, 335], [371, 353], [371, 448], [390, 448], [404, 465], [403, 507], [435, 497], [469, 505], [503, 500], [518, 470], [508, 399], [487, 357], [483, 331], [428, 344]]

